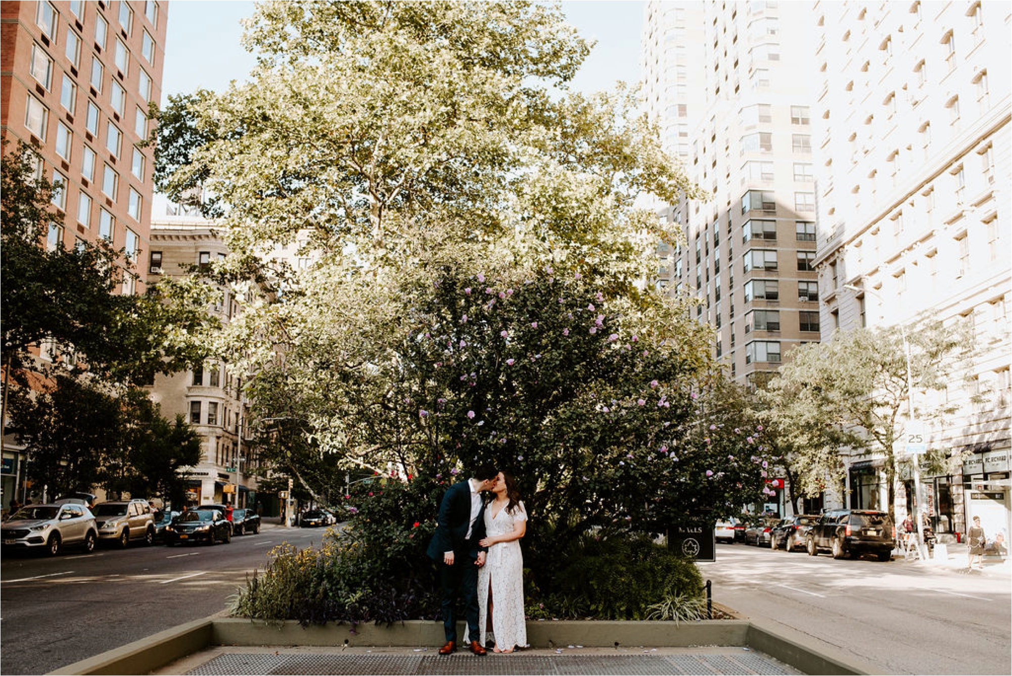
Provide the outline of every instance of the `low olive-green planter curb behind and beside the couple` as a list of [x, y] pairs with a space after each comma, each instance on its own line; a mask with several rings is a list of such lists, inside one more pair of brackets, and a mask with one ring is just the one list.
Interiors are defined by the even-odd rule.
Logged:
[[[462, 626], [461, 626], [462, 630]], [[580, 645], [585, 648], [651, 646], [742, 647], [768, 655], [806, 674], [883, 674], [818, 639], [783, 625], [750, 619], [715, 619], [674, 624], [665, 621], [554, 620], [527, 623], [534, 648]], [[51, 674], [146, 674], [213, 646], [405, 647], [438, 646], [442, 624], [409, 620], [376, 626], [325, 624], [303, 627], [296, 621], [268, 625], [221, 614], [180, 624], [147, 639], [76, 662]]]

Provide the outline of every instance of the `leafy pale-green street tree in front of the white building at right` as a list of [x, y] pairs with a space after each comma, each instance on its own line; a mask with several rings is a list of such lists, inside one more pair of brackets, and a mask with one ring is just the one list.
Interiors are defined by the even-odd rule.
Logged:
[[837, 331], [791, 352], [762, 397], [802, 492], [815, 497], [831, 485], [842, 495], [841, 453], [880, 454], [892, 511], [911, 398], [914, 419], [929, 427], [950, 415], [932, 395], [961, 374], [968, 344], [960, 327], [924, 319], [909, 330]]

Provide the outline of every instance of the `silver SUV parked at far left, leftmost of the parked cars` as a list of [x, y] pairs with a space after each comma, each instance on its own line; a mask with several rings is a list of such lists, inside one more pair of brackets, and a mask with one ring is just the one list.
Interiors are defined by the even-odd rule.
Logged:
[[56, 556], [70, 545], [91, 552], [98, 528], [86, 505], [27, 505], [4, 521], [0, 536], [5, 551], [44, 551]]

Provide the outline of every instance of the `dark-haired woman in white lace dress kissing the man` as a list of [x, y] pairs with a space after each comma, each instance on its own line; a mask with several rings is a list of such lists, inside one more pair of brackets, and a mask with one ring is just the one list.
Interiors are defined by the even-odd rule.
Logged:
[[523, 615], [523, 554], [520, 538], [527, 530], [527, 512], [520, 502], [516, 480], [499, 473], [495, 496], [485, 507], [485, 539], [489, 547], [485, 566], [478, 572], [478, 626], [484, 646], [489, 631], [495, 636], [496, 653], [527, 647]]

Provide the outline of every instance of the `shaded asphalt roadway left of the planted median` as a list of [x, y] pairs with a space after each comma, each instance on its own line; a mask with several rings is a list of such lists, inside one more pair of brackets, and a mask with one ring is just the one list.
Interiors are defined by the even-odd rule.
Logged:
[[319, 528], [274, 527], [229, 544], [96, 547], [0, 561], [0, 673], [45, 674], [222, 612], [282, 541], [319, 544]]

